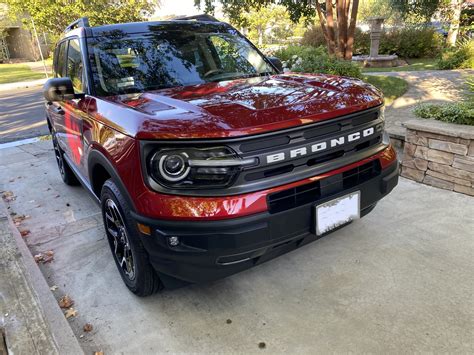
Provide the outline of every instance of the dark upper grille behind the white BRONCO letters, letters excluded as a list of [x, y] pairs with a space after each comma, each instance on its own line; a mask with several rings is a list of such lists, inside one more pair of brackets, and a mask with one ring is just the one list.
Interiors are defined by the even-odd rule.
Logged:
[[[242, 171], [235, 185], [263, 183], [269, 179], [273, 179], [273, 181], [281, 179], [283, 183], [290, 180], [301, 180], [301, 178], [320, 173], [315, 169], [322, 164], [342, 161], [343, 158], [349, 160], [351, 156], [379, 145], [382, 142], [383, 134], [383, 119], [379, 116], [379, 112], [378, 108], [371, 109], [327, 122], [302, 126], [280, 134], [275, 132], [271, 137], [255, 137], [233, 145], [232, 148], [236, 149], [240, 156], [244, 158], [257, 157], [260, 162], [258, 166]], [[351, 142], [348, 141], [349, 134], [362, 132], [367, 128], [374, 128], [375, 133]], [[345, 138], [343, 144], [329, 146], [331, 139], [340, 137]], [[317, 152], [311, 151], [314, 144], [322, 142], [328, 145], [326, 149]], [[291, 151], [298, 148], [306, 149], [307, 154], [290, 158]], [[278, 162], [267, 162], [269, 155], [278, 153], [284, 154], [285, 159]], [[284, 181], [285, 177], [289, 180]]]

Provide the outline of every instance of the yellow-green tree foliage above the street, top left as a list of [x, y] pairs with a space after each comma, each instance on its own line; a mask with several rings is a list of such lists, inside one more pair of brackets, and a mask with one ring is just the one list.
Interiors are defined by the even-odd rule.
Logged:
[[1, 0], [9, 16], [38, 31], [58, 36], [66, 26], [80, 17], [88, 17], [92, 26], [140, 21], [155, 8], [152, 0]]

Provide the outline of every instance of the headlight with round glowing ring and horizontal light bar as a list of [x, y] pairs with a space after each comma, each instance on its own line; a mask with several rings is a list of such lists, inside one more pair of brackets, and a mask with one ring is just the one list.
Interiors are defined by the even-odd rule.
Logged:
[[149, 174], [157, 183], [173, 189], [229, 186], [256, 158], [241, 159], [230, 148], [159, 149], [150, 154]]

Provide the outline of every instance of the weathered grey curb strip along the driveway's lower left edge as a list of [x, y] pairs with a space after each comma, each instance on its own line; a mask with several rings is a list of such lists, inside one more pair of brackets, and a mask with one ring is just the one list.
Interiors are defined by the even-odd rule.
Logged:
[[45, 337], [50, 338], [51, 347], [55, 348], [58, 354], [84, 354], [71, 326], [51, 293], [43, 273], [33, 259], [20, 232], [15, 227], [5, 203], [0, 201], [0, 227], [2, 226], [9, 229], [7, 232], [14, 238], [14, 244], [16, 244], [20, 253], [18, 264], [23, 269], [24, 277], [28, 283], [27, 286], [31, 289], [38, 304], [38, 311], [43, 318], [42, 321], [49, 328], [50, 334], [45, 334]]

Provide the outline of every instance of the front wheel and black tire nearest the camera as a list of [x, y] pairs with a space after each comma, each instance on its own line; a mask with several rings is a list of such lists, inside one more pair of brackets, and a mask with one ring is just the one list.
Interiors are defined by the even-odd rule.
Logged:
[[162, 283], [150, 264], [130, 207], [110, 179], [102, 187], [101, 207], [110, 250], [125, 285], [141, 297], [160, 291]]

